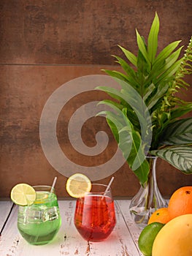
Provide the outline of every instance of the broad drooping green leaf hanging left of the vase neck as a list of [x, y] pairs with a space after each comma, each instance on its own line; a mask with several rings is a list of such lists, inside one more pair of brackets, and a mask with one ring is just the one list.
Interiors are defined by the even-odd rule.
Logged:
[[139, 182], [143, 185], [147, 181], [149, 166], [146, 163], [145, 154], [142, 150], [144, 146], [142, 146], [139, 132], [134, 130], [134, 126], [126, 116], [125, 110], [123, 113], [114, 105], [110, 104], [110, 102], [105, 103], [113, 108], [116, 113], [104, 110], [98, 113], [97, 116], [107, 116], [107, 123], [112, 130], [115, 140], [118, 142], [123, 157], [127, 160], [128, 165], [134, 171], [137, 178], [139, 178]]

